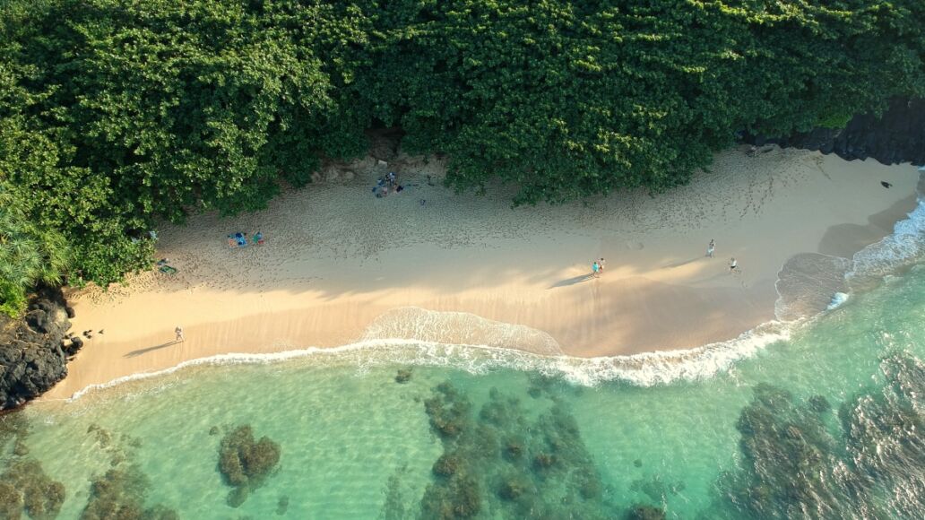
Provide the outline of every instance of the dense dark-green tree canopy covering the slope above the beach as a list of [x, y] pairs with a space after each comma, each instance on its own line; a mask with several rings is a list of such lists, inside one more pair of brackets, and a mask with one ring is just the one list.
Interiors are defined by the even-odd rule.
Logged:
[[0, 176], [69, 279], [145, 266], [158, 218], [264, 207], [364, 130], [515, 203], [684, 183], [737, 131], [925, 94], [920, 0], [6, 0]]

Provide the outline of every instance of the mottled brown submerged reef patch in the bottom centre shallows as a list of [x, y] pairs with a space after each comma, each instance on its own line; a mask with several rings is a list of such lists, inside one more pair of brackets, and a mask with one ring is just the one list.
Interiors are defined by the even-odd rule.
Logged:
[[519, 399], [492, 389], [478, 408], [442, 383], [425, 400], [443, 453], [421, 501], [422, 518], [612, 518], [598, 470], [578, 426], [556, 393], [536, 379], [528, 395], [549, 408], [528, 413]]

